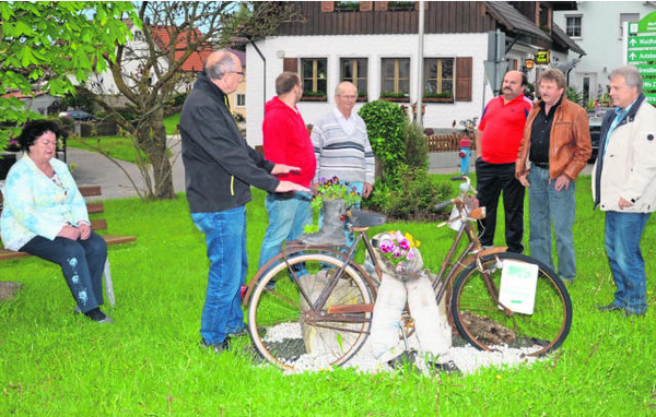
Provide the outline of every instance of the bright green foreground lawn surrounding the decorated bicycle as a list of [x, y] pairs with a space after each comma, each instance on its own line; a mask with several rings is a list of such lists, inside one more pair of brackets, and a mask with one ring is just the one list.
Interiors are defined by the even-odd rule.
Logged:
[[[220, 356], [203, 350], [198, 331], [208, 261], [184, 195], [107, 201], [107, 231], [138, 237], [109, 249], [117, 306], [107, 310], [115, 324], [73, 315], [74, 301], [57, 267], [37, 259], [0, 263], [0, 279], [25, 286], [14, 301], [0, 303], [0, 415], [656, 415], [654, 217], [643, 239], [646, 317], [598, 312], [595, 306], [609, 302], [614, 286], [604, 252], [604, 214], [591, 211], [589, 183], [589, 177], [577, 182], [578, 277], [570, 287], [575, 315], [563, 347], [530, 368], [467, 377], [344, 369], [283, 376], [251, 358], [247, 337]], [[251, 276], [266, 228], [262, 192], [248, 204], [248, 222]], [[454, 234], [418, 223], [378, 230], [390, 228], [420, 239], [434, 270]]]

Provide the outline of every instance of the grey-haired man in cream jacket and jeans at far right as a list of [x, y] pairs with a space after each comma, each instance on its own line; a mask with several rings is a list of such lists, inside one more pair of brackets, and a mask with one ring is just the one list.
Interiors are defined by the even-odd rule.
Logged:
[[601, 123], [593, 195], [595, 207], [606, 212], [606, 252], [618, 288], [613, 301], [599, 310], [643, 315], [646, 276], [640, 239], [656, 206], [656, 109], [643, 94], [635, 67], [619, 68], [608, 78], [617, 107]]

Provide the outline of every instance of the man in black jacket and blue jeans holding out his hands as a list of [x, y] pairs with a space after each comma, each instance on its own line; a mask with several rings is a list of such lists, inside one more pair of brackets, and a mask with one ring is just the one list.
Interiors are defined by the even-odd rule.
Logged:
[[206, 235], [210, 272], [202, 309], [201, 344], [219, 353], [242, 334], [239, 288], [246, 278], [246, 203], [250, 186], [269, 192], [306, 191], [273, 177], [297, 170], [266, 160], [239, 133], [227, 103], [244, 76], [226, 51], [212, 52], [180, 116], [185, 183], [191, 219]]

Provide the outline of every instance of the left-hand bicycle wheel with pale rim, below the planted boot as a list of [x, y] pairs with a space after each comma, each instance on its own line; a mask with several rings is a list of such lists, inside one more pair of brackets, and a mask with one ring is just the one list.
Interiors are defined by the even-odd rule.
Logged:
[[[262, 358], [303, 370], [341, 366], [358, 353], [368, 336], [373, 300], [352, 266], [335, 277], [342, 263], [306, 253], [281, 260], [260, 278], [248, 305], [248, 330]], [[269, 282], [274, 288], [267, 288]], [[328, 297], [317, 308], [323, 294]]]

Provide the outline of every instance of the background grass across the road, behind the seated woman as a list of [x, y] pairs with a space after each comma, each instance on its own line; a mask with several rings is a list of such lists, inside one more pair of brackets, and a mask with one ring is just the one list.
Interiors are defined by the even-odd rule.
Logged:
[[[177, 134], [177, 124], [180, 122], [180, 114], [177, 112], [164, 119], [166, 134]], [[67, 146], [77, 147], [84, 151], [98, 152], [99, 146], [104, 152], [107, 152], [112, 157], [129, 163], [137, 163], [137, 150], [131, 139], [117, 136], [98, 136], [98, 138], [80, 138], [68, 139]], [[145, 158], [145, 154], [141, 153]]]

